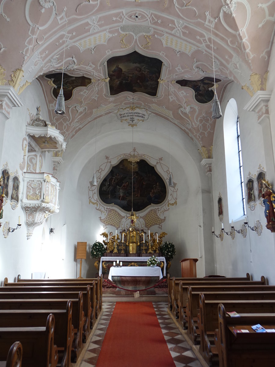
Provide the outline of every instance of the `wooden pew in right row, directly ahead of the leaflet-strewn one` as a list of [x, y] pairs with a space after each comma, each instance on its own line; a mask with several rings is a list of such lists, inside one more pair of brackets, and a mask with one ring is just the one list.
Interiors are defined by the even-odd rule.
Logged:
[[199, 294], [198, 327], [201, 337], [199, 352], [205, 361], [212, 365], [213, 357], [218, 356], [214, 345], [214, 333], [219, 328], [218, 305], [222, 303], [227, 312], [237, 313], [274, 313], [275, 300], [228, 300], [205, 301], [203, 293]]

